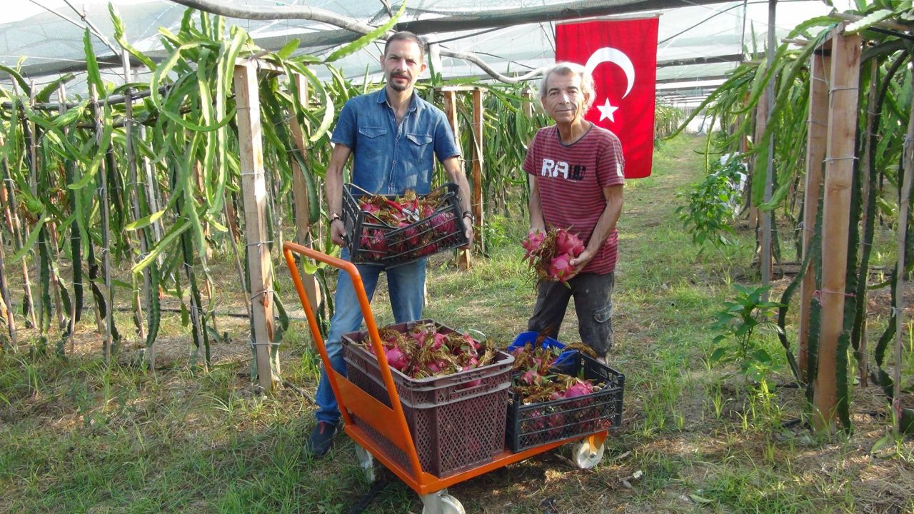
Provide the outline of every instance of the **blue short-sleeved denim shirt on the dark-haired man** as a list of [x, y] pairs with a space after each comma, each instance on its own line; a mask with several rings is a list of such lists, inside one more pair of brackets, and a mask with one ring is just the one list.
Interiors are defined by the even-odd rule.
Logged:
[[460, 155], [444, 112], [415, 91], [399, 126], [385, 88], [350, 99], [330, 140], [352, 150], [351, 182], [382, 195], [428, 193], [435, 155]]

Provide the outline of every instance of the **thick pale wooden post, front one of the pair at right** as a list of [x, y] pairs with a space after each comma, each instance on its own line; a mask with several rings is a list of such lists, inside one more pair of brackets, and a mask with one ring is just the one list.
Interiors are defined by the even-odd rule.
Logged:
[[854, 173], [860, 37], [845, 35], [845, 24], [832, 37], [831, 91], [822, 208], [822, 327], [813, 395], [813, 427], [831, 430], [837, 406], [837, 346], [844, 328], [847, 233]]

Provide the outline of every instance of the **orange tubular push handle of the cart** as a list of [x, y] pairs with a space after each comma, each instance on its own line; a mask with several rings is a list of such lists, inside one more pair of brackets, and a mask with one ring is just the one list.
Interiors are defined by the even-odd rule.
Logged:
[[375, 357], [377, 358], [377, 364], [381, 370], [381, 378], [384, 380], [384, 386], [388, 390], [390, 406], [394, 412], [394, 419], [391, 420], [391, 423], [395, 423], [397, 428], [399, 428], [402, 441], [406, 444], [406, 455], [409, 458], [409, 464], [412, 466], [413, 472], [418, 479], [422, 476], [422, 466], [419, 462], [419, 454], [416, 452], [416, 445], [412, 442], [412, 434], [409, 434], [409, 425], [406, 423], [406, 415], [403, 413], [403, 406], [399, 401], [399, 392], [397, 392], [397, 386], [394, 384], [393, 375], [390, 373], [388, 358], [384, 354], [384, 347], [381, 345], [381, 336], [377, 333], [375, 316], [372, 316], [371, 314], [371, 305], [368, 303], [365, 285], [362, 284], [362, 277], [358, 273], [356, 264], [338, 257], [327, 255], [326, 253], [318, 252], [291, 241], [282, 243], [282, 253], [285, 255], [286, 264], [289, 266], [289, 273], [292, 274], [292, 283], [295, 284], [295, 291], [298, 292], [298, 297], [302, 301], [304, 315], [308, 318], [308, 325], [311, 327], [311, 335], [314, 337], [314, 345], [317, 346], [317, 351], [321, 354], [321, 360], [324, 361], [324, 372], [327, 373], [327, 378], [330, 380], [330, 387], [334, 391], [336, 402], [339, 404], [340, 414], [343, 416], [343, 421], [346, 424], [352, 424], [352, 418], [345, 408], [343, 395], [340, 394], [339, 384], [336, 382], [336, 371], [330, 363], [330, 356], [327, 355], [327, 348], [324, 346], [324, 337], [321, 337], [321, 330], [317, 326], [317, 318], [314, 316], [311, 302], [308, 301], [308, 294], [304, 291], [302, 274], [299, 273], [298, 266], [295, 264], [295, 259], [292, 257], [292, 252], [301, 253], [305, 257], [309, 257], [315, 261], [325, 262], [337, 269], [349, 273], [353, 288], [356, 290], [358, 305], [362, 309], [362, 316], [365, 317], [365, 325], [368, 328], [368, 337], [371, 339], [371, 346], [375, 349]]

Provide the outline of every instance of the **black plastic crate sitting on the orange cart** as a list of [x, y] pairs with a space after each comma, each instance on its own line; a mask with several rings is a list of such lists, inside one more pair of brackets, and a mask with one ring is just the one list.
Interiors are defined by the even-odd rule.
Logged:
[[622, 391], [625, 387], [622, 373], [577, 351], [555, 369], [593, 380], [600, 384], [600, 391], [527, 405], [522, 404], [520, 395], [512, 391], [505, 430], [507, 446], [512, 452], [618, 428], [622, 423]]

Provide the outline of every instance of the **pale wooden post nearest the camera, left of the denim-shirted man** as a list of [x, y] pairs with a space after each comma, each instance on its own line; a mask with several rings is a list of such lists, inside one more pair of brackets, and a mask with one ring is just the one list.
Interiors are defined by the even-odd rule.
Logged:
[[[273, 362], [273, 269], [267, 245], [267, 183], [263, 172], [263, 141], [260, 134], [260, 97], [257, 67], [253, 61], [235, 64], [235, 104], [238, 112], [241, 191], [244, 197], [245, 236], [248, 241], [248, 284], [257, 359], [257, 377], [264, 391], [279, 380], [279, 359]], [[274, 375], [274, 371], [276, 375]]]

